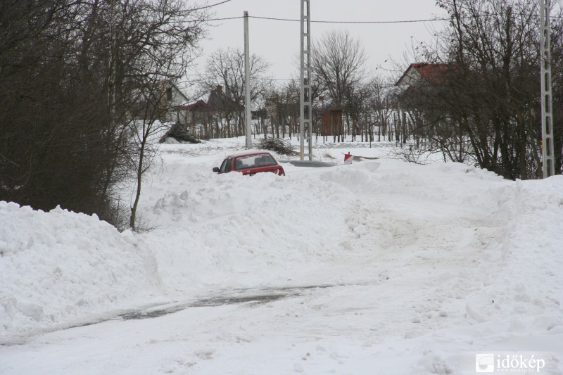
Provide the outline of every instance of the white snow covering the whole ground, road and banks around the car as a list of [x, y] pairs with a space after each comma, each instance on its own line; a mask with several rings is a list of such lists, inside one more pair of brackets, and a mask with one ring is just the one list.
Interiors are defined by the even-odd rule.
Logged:
[[211, 171], [244, 141], [162, 144], [141, 234], [0, 202], [0, 374], [563, 374], [562, 176], [360, 143]]

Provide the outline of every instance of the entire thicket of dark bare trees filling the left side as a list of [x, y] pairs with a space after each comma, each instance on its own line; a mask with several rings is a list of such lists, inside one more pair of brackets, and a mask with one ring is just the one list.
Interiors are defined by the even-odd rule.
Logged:
[[1, 2], [0, 199], [117, 224], [118, 183], [139, 155], [131, 115], [152, 106], [136, 98], [182, 75], [203, 12], [176, 0]]

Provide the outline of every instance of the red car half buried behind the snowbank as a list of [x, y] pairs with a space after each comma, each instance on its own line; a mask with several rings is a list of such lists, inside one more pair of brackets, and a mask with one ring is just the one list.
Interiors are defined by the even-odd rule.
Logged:
[[253, 151], [246, 153], [235, 153], [227, 156], [220, 167], [214, 167], [213, 172], [228, 173], [242, 172], [251, 176], [260, 172], [274, 172], [280, 176], [285, 176], [284, 167], [277, 163], [270, 153], [266, 151]]

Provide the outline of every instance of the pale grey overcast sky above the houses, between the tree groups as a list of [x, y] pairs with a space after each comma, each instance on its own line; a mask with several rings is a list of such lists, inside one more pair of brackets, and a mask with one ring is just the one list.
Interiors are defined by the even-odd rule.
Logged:
[[[209, 0], [217, 4], [224, 0]], [[300, 49], [301, 0], [230, 0], [212, 8], [215, 18], [242, 17], [248, 11], [251, 17], [285, 18], [296, 20], [249, 19], [249, 39], [251, 53], [261, 56], [272, 64], [271, 72], [275, 79], [284, 80], [293, 72], [298, 72]], [[368, 56], [370, 69], [378, 66], [392, 69], [386, 60], [391, 56], [403, 63], [407, 61], [403, 53], [410, 49], [412, 38], [428, 42], [432, 33], [440, 29], [441, 22], [417, 23], [315, 23], [314, 21], [406, 21], [428, 20], [445, 13], [436, 6], [435, 0], [311, 0], [310, 20], [311, 39], [320, 39], [331, 30], [348, 30], [355, 39], [360, 39]], [[203, 65], [205, 56], [227, 47], [244, 49], [243, 18], [213, 21], [209, 39], [204, 41], [204, 56], [198, 60]], [[415, 61], [409, 61], [415, 62]]]

